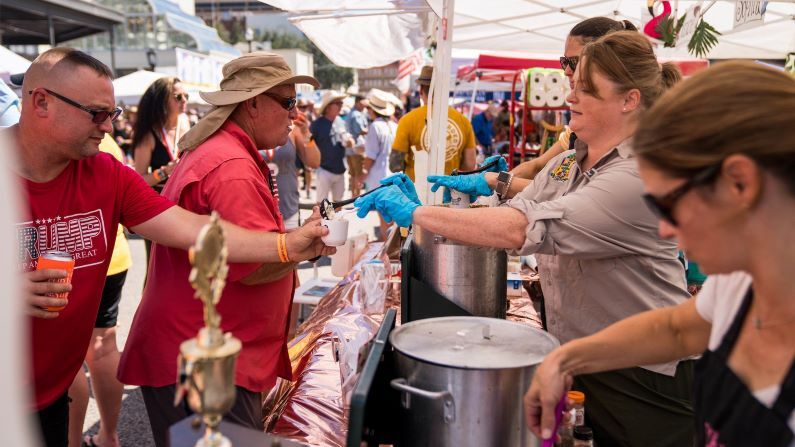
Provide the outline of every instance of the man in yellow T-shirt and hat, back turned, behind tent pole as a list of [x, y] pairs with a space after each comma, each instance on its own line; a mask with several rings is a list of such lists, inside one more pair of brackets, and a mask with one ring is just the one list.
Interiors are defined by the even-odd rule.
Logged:
[[[425, 125], [428, 114], [428, 90], [431, 85], [433, 67], [424, 66], [417, 84], [420, 85], [420, 98], [423, 106], [412, 110], [398, 122], [392, 152], [389, 154], [389, 170], [405, 171], [414, 180], [414, 150], [428, 150], [431, 135]], [[475, 132], [469, 120], [457, 110], [447, 109], [447, 141], [445, 144], [444, 173], [449, 175], [453, 169], [469, 171], [475, 169]]]

